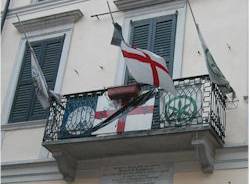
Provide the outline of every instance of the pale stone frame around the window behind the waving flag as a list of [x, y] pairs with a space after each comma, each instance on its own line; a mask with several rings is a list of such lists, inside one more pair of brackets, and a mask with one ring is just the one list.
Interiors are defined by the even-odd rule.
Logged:
[[[186, 3], [185, 1], [177, 1], [164, 3], [149, 8], [140, 8], [126, 12], [122, 23], [123, 36], [127, 42], [131, 39], [131, 21], [140, 21], [150, 18], [156, 18], [177, 13], [174, 63], [173, 63], [173, 79], [180, 78], [182, 75], [182, 54], [184, 47], [184, 32], [186, 20]], [[124, 85], [126, 82], [126, 66], [123, 61], [123, 56], [120, 54], [118, 65], [116, 68], [115, 85]]]

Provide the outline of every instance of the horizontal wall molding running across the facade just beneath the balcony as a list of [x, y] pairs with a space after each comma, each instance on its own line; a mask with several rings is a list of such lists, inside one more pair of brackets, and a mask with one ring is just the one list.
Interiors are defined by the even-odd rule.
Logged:
[[[174, 162], [176, 172], [199, 171], [200, 164], [195, 159], [195, 151], [168, 152], [155, 154], [124, 155], [110, 158], [85, 160], [78, 163], [76, 177], [98, 177], [101, 168], [106, 165], [126, 164], [135, 161], [161, 161]], [[2, 183], [24, 183], [37, 181], [63, 180], [55, 159], [38, 159], [26, 161], [3, 162]], [[248, 146], [233, 146], [216, 150], [214, 170], [247, 169]]]

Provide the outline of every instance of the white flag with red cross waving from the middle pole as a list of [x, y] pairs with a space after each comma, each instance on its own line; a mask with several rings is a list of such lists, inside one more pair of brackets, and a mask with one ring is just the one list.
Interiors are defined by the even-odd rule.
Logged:
[[132, 48], [125, 42], [121, 43], [121, 50], [130, 74], [138, 83], [151, 84], [176, 94], [173, 80], [162, 57], [148, 50]]

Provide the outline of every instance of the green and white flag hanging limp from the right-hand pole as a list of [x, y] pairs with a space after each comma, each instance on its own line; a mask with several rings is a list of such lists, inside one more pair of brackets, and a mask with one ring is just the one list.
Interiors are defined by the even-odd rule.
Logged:
[[205, 54], [206, 65], [207, 65], [210, 80], [213, 83], [217, 84], [223, 93], [225, 93], [225, 94], [231, 93], [232, 97], [235, 98], [235, 96], [236, 96], [235, 92], [234, 92], [233, 88], [230, 86], [230, 84], [227, 81], [227, 79], [225, 78], [225, 76], [223, 75], [223, 73], [221, 72], [220, 68], [215, 63], [215, 60], [214, 60], [211, 52], [209, 51], [209, 49], [208, 49], [208, 47], [203, 39], [203, 36], [200, 32], [198, 24], [196, 24], [196, 28], [197, 28], [197, 32], [198, 32], [198, 36], [199, 36], [201, 45], [202, 45], [203, 52]]

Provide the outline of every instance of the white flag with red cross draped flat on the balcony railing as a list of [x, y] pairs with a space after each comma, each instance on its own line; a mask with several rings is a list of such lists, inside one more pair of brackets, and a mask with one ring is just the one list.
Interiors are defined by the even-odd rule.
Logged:
[[[122, 134], [129, 131], [150, 130], [152, 126], [155, 98], [149, 99], [145, 104], [138, 106], [127, 115], [112, 121], [110, 124], [93, 132], [92, 135]], [[115, 107], [105, 96], [99, 96], [94, 126], [100, 124], [116, 111]]]

